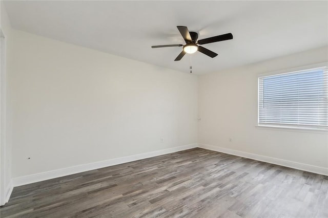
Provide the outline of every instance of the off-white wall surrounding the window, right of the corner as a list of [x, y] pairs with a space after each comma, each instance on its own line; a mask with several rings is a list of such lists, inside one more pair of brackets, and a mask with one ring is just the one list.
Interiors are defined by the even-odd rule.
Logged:
[[328, 172], [327, 132], [256, 127], [258, 74], [327, 61], [327, 51], [323, 47], [200, 76], [198, 142]]

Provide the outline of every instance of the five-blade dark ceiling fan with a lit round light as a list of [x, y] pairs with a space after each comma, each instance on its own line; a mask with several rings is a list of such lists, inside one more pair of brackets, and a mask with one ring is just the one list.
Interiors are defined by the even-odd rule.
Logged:
[[175, 61], [181, 60], [181, 58], [186, 53], [192, 54], [192, 53], [195, 53], [196, 51], [199, 51], [203, 54], [206, 54], [207, 56], [210, 56], [212, 58], [216, 57], [217, 54], [215, 52], [212, 52], [211, 50], [208, 50], [208, 49], [206, 49], [202, 46], [198, 46], [198, 45], [203, 45], [203, 44], [217, 42], [217, 41], [224, 41], [224, 40], [229, 40], [229, 39], [233, 38], [231, 33], [226, 33], [226, 34], [223, 34], [223, 35], [213, 36], [213, 37], [210, 37], [210, 38], [204, 38], [204, 39], [200, 39], [200, 40], [197, 41], [198, 33], [189, 32], [188, 28], [184, 27], [184, 26], [177, 26], [177, 28], [180, 31], [183, 39], [185, 39], [186, 45], [177, 44], [177, 45], [152, 46], [152, 48], [181, 47], [181, 46], [183, 46], [182, 52], [175, 58]]

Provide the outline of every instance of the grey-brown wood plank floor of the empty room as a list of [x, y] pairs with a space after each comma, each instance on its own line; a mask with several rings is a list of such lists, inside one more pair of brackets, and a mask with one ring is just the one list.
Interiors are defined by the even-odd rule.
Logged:
[[1, 217], [328, 217], [328, 177], [194, 148], [15, 187]]

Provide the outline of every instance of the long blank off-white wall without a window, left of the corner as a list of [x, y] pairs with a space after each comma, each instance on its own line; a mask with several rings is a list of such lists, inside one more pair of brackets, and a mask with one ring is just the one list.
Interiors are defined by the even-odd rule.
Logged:
[[13, 36], [13, 178], [197, 143], [197, 76]]

